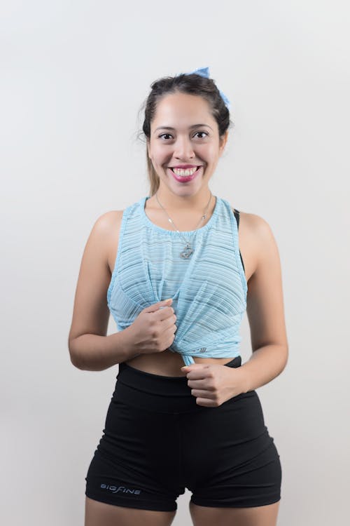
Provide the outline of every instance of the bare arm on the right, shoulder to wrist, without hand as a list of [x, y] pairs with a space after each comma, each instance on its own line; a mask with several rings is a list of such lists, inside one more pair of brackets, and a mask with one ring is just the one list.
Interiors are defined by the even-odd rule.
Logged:
[[288, 360], [279, 251], [269, 224], [253, 216], [257, 266], [248, 281], [247, 316], [251, 358], [239, 367], [245, 391], [253, 391], [280, 375]]

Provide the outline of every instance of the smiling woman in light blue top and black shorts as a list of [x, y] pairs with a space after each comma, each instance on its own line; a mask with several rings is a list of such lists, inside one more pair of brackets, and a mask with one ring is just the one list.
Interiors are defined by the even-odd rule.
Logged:
[[[119, 364], [85, 526], [170, 525], [186, 487], [195, 526], [273, 526], [281, 464], [255, 389], [288, 359], [278, 249], [262, 217], [209, 189], [230, 103], [208, 69], [151, 88], [151, 196], [94, 224], [69, 333], [76, 367]], [[110, 312], [118, 332], [106, 336]]]

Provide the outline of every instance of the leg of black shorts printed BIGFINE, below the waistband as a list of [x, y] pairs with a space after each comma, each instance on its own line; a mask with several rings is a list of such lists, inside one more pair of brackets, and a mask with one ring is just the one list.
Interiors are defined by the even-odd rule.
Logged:
[[113, 506], [175, 511], [176, 498], [185, 488], [177, 476], [179, 440], [173, 415], [113, 398], [103, 431], [87, 470], [86, 497]]

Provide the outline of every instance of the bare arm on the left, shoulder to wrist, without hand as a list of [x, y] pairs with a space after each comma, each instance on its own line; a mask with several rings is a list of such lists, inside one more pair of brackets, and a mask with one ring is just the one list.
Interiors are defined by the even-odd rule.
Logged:
[[106, 292], [111, 281], [107, 249], [111, 236], [118, 238], [122, 215], [118, 210], [99, 217], [85, 245], [68, 342], [71, 363], [78, 369], [102, 371], [137, 355], [127, 329], [106, 336]]

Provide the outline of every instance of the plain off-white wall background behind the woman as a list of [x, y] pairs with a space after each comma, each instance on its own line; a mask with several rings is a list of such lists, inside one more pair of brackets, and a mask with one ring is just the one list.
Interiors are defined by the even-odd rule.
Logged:
[[[349, 4], [13, 0], [0, 18], [1, 522], [83, 525], [118, 374], [69, 359], [83, 248], [99, 215], [148, 194], [151, 82], [208, 66], [235, 123], [211, 191], [265, 218], [281, 257], [290, 356], [258, 389], [283, 469], [278, 525], [344, 524]], [[246, 361], [246, 317], [241, 334]], [[174, 526], [191, 524], [189, 499]]]

